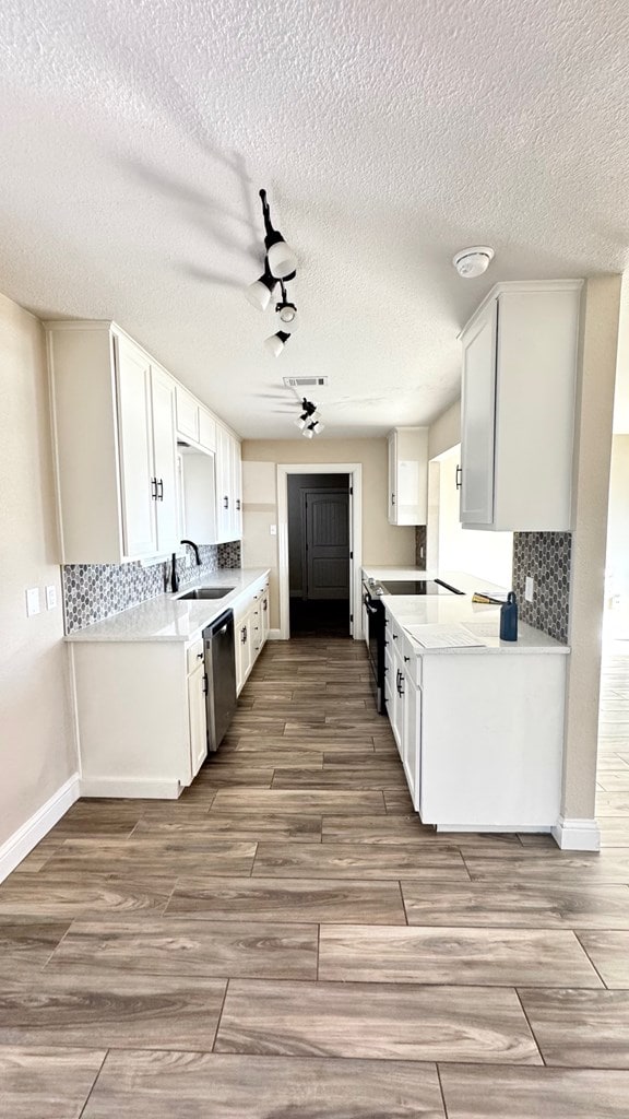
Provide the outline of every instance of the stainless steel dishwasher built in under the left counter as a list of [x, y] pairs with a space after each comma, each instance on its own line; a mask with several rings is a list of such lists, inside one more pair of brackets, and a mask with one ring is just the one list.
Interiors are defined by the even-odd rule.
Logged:
[[207, 749], [216, 751], [236, 711], [234, 614], [226, 610], [203, 631], [207, 677]]

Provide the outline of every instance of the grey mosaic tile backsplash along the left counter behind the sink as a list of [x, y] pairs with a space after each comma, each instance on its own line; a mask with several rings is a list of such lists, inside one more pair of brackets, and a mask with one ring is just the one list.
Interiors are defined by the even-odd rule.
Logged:
[[[185, 566], [184, 560], [177, 561], [180, 587], [195, 583], [201, 575], [241, 566], [240, 540], [201, 545], [200, 567], [195, 563], [191, 549], [189, 552], [193, 561], [189, 567]], [[63, 567], [62, 573], [66, 633], [111, 618], [170, 589], [169, 562], [151, 567], [142, 567], [139, 563], [74, 564]]]

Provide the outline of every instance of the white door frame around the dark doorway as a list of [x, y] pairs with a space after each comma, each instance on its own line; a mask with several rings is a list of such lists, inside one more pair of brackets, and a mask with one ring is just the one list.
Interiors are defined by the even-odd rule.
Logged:
[[278, 576], [280, 582], [281, 641], [291, 636], [289, 585], [289, 474], [348, 474], [350, 489], [349, 536], [349, 632], [355, 641], [363, 638], [362, 602], [363, 567], [363, 464], [360, 462], [278, 463]]

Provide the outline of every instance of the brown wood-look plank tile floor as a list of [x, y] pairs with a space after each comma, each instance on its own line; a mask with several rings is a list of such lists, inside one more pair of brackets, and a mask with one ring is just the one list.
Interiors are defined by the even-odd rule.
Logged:
[[628, 774], [614, 650], [602, 853], [436, 835], [364, 647], [267, 646], [179, 801], [83, 800], [0, 885], [0, 1116], [628, 1119]]

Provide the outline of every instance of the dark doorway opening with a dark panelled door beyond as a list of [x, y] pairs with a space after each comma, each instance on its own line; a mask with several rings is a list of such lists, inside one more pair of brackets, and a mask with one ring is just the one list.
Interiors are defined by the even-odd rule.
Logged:
[[349, 489], [349, 474], [288, 478], [292, 637], [351, 636]]

